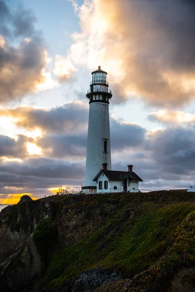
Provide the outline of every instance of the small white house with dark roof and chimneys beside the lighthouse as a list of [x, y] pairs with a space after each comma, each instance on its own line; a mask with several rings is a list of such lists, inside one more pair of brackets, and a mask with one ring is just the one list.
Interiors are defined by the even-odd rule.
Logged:
[[128, 171], [107, 170], [107, 164], [103, 163], [93, 179], [97, 182], [97, 193], [138, 192], [138, 184], [143, 181], [132, 169], [133, 165], [128, 165]]

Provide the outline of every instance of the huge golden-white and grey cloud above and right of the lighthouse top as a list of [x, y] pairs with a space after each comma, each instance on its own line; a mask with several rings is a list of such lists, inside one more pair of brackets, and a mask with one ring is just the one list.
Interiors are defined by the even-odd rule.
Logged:
[[[75, 2], [75, 1], [73, 1]], [[68, 59], [109, 73], [115, 102], [138, 95], [174, 106], [195, 96], [195, 4], [191, 0], [91, 0], [79, 9]]]

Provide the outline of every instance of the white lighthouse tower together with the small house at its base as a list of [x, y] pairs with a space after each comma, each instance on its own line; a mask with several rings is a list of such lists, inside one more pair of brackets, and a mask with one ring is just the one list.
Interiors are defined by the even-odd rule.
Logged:
[[89, 99], [89, 123], [82, 192], [136, 192], [142, 179], [132, 171], [133, 165], [128, 165], [128, 171], [112, 171], [111, 168], [109, 100], [112, 92], [108, 88], [106, 75], [98, 66], [98, 70], [92, 72], [90, 89], [86, 94]]

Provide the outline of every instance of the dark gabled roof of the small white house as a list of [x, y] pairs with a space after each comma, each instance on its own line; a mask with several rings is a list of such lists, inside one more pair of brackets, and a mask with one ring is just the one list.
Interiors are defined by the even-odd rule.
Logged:
[[133, 182], [143, 182], [135, 172], [117, 170], [100, 170], [93, 181], [97, 180], [100, 173], [103, 173], [110, 181], [121, 181], [126, 177], [130, 177]]

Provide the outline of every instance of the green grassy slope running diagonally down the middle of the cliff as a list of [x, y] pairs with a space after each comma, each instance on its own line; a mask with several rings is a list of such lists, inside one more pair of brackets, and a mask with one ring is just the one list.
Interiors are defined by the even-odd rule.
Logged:
[[[43, 278], [43, 284], [51, 286], [59, 286], [97, 266], [116, 268], [131, 278], [159, 260], [174, 241], [178, 225], [195, 211], [195, 194], [182, 191], [58, 200], [60, 208], [64, 205], [61, 212], [81, 207], [90, 216], [94, 208], [99, 208], [102, 219], [78, 243], [63, 247], [52, 256]], [[108, 212], [106, 204], [117, 208]]]

